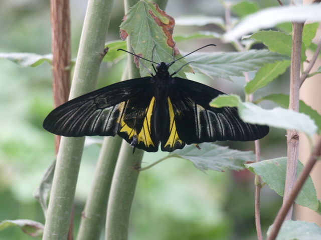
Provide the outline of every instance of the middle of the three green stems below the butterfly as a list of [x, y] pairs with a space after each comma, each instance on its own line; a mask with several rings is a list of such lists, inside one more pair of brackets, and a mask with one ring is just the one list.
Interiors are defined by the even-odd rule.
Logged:
[[104, 138], [77, 240], [96, 240], [100, 237], [121, 139], [119, 136]]

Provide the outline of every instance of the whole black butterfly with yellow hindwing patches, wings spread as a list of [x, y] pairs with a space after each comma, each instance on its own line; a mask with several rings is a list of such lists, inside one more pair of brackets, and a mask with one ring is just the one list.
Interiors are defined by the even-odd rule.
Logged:
[[155, 75], [117, 82], [67, 101], [49, 113], [44, 128], [63, 136], [118, 134], [133, 148], [149, 152], [157, 151], [159, 143], [163, 151], [173, 151], [192, 143], [251, 141], [268, 133], [268, 126], [241, 120], [236, 107], [209, 105], [225, 93], [173, 77], [177, 71], [170, 74], [168, 69], [177, 60], [152, 64]]

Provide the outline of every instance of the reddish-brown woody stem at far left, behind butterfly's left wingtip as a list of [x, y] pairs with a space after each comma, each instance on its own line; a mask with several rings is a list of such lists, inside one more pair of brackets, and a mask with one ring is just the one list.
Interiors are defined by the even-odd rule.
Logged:
[[[51, 0], [54, 107], [68, 100], [70, 91], [69, 0]], [[60, 136], [55, 137], [56, 153]]]

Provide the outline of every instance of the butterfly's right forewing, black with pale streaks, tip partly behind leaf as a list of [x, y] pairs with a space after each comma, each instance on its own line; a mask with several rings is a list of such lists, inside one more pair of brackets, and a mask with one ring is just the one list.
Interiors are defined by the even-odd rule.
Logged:
[[245, 123], [236, 107], [211, 107], [209, 102], [219, 94], [225, 93], [196, 81], [173, 78], [169, 105], [172, 104], [176, 134], [181, 141], [251, 141], [268, 133], [268, 126]]

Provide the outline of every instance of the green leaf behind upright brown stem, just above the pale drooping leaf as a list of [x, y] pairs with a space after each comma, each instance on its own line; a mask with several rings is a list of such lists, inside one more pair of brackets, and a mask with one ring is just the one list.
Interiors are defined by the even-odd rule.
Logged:
[[[289, 95], [286, 94], [271, 94], [260, 98], [261, 100], [271, 100], [283, 108], [288, 108], [289, 106]], [[306, 105], [304, 101], [299, 101], [299, 112], [302, 112], [311, 117], [317, 126], [317, 133], [321, 132], [321, 115], [317, 113], [316, 110], [312, 109], [310, 106]]]

